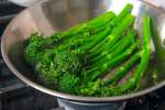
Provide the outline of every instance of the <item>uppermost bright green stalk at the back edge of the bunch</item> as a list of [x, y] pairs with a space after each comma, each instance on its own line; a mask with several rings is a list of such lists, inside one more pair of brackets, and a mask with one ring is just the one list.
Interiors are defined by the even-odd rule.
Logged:
[[[58, 41], [65, 41], [67, 43], [68, 38], [78, 38], [78, 37], [87, 37], [90, 36], [90, 34], [95, 34], [99, 31], [102, 31], [107, 28], [108, 22], [110, 22], [116, 14], [110, 11], [108, 13], [101, 14], [86, 23], [78, 24], [70, 30], [64, 31], [64, 32], [58, 32], [53, 34], [51, 36], [52, 42], [56, 43]], [[86, 35], [84, 35], [84, 33]]]

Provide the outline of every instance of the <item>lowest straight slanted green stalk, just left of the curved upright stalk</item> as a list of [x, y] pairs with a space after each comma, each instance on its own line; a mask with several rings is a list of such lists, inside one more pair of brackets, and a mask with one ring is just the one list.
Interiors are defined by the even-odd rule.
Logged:
[[133, 65], [140, 59], [140, 52], [132, 55], [131, 58], [125, 64], [123, 64], [123, 66], [117, 68], [118, 70], [112, 77], [110, 77], [110, 79], [105, 81], [105, 86], [117, 85], [118, 81], [122, 79], [124, 75], [131, 69], [131, 67], [133, 67]]

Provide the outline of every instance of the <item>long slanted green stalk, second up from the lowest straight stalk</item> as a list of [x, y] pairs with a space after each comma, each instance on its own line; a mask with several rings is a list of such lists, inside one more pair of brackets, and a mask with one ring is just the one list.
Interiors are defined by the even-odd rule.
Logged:
[[92, 76], [91, 80], [95, 80], [100, 75], [103, 76], [105, 74], [107, 74], [107, 72], [111, 70], [114, 66], [119, 65], [121, 62], [128, 58], [132, 54], [132, 52], [138, 47], [139, 44], [140, 44], [140, 41], [138, 40], [135, 43], [133, 43], [129, 48], [127, 48], [120, 55], [111, 59], [106, 59], [100, 65], [97, 65], [96, 67], [88, 69], [87, 75]]

